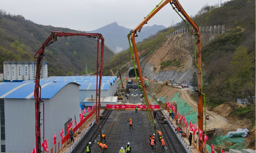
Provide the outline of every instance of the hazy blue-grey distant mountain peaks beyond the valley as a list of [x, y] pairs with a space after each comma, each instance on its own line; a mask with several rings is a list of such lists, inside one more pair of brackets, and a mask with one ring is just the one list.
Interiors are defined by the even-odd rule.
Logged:
[[[159, 30], [165, 29], [163, 25], [152, 25], [144, 26], [141, 33], [138, 35], [136, 42], [142, 41], [148, 38], [150, 35], [156, 34]], [[89, 33], [101, 33], [105, 38], [106, 45], [115, 53], [118, 53], [129, 47], [127, 34], [132, 31], [132, 29], [126, 28], [124, 26], [118, 25], [113, 22], [109, 25], [105, 25], [99, 29], [89, 31]]]

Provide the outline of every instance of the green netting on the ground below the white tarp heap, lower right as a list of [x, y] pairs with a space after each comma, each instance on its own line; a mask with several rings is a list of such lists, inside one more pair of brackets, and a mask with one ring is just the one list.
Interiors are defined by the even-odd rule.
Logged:
[[228, 149], [240, 150], [245, 149], [245, 139], [243, 137], [228, 137], [227, 135], [218, 135], [212, 139], [212, 144], [224, 146]]

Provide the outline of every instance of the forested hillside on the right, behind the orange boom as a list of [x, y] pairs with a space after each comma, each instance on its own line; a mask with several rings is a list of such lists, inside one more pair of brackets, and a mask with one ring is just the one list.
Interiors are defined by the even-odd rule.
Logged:
[[[207, 105], [214, 108], [228, 103], [234, 115], [249, 118], [255, 125], [255, 104], [252, 101], [252, 96], [255, 96], [255, 0], [233, 0], [222, 4], [219, 8], [205, 5], [192, 18], [198, 26], [225, 25], [226, 27], [225, 34], [217, 34], [202, 46], [203, 92], [206, 95]], [[181, 22], [137, 43], [138, 51], [142, 52], [141, 64], [150, 61], [151, 59], [147, 58], [156, 50], [161, 50], [160, 46], [167, 41], [166, 35], [185, 27]], [[193, 42], [191, 43], [193, 46]], [[172, 50], [168, 54], [171, 52]], [[110, 75], [108, 69], [112, 69], [115, 73], [117, 68], [121, 68], [129, 61], [131, 61], [130, 50], [117, 54], [105, 66], [104, 72]], [[121, 71], [127, 72], [127, 68], [128, 65]], [[162, 71], [173, 70], [166, 68]], [[196, 69], [196, 66], [194, 68]], [[191, 81], [197, 82], [197, 74], [193, 76]], [[236, 108], [237, 98], [247, 98], [253, 105]]]

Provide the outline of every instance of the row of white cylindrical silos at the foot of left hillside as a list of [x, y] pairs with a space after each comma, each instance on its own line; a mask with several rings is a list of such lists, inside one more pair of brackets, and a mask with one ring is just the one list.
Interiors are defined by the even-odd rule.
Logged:
[[[36, 75], [36, 62], [23, 61], [5, 61], [4, 62], [4, 82], [22, 82], [24, 80], [35, 80]], [[42, 68], [40, 72], [41, 78], [48, 77], [47, 62], [42, 62]]]

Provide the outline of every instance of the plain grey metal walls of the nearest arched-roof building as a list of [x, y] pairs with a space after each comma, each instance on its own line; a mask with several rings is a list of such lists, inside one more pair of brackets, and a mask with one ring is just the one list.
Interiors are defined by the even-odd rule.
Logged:
[[[75, 114], [79, 122], [78, 91], [78, 85], [67, 84], [51, 99], [44, 99], [44, 132], [48, 148], [53, 146], [55, 131], [56, 141], [58, 142], [61, 139], [61, 128], [63, 128], [63, 131], [66, 130], [64, 124], [69, 118], [73, 119], [73, 127], [75, 126]], [[6, 152], [30, 153], [36, 146], [35, 99], [4, 99], [4, 111]], [[41, 112], [41, 119], [43, 119], [42, 105]], [[42, 136], [43, 125], [41, 126]]]

